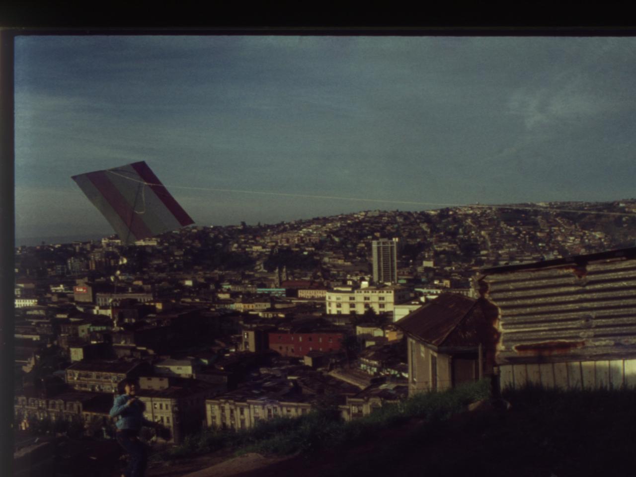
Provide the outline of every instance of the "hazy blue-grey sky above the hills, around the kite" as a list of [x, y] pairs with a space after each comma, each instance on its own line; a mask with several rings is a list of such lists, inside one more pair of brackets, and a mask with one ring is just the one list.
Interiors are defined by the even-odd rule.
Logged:
[[635, 57], [636, 38], [17, 36], [16, 237], [113, 233], [71, 176], [141, 160], [206, 226], [636, 197]]

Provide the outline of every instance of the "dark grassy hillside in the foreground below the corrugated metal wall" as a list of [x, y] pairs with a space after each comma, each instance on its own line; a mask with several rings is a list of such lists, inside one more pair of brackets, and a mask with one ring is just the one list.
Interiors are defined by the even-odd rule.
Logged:
[[300, 452], [244, 477], [636, 476], [636, 390], [529, 388], [504, 392], [511, 410], [460, 412], [486, 393], [476, 384], [425, 394], [351, 423], [277, 420], [222, 445]]

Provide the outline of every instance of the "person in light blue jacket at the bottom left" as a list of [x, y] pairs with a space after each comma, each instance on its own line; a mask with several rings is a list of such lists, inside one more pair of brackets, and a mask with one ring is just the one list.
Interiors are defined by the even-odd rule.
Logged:
[[139, 440], [141, 428], [162, 427], [158, 422], [144, 418], [145, 404], [137, 397], [137, 383], [133, 379], [124, 380], [125, 394], [115, 397], [111, 417], [119, 417], [116, 422], [117, 442], [130, 456], [124, 477], [144, 477], [148, 464], [146, 445]]

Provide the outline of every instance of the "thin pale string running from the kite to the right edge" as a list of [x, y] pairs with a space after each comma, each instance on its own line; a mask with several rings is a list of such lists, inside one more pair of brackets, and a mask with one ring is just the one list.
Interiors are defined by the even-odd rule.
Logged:
[[[478, 209], [518, 209], [523, 211], [557, 211], [557, 212], [576, 212], [578, 214], [599, 214], [599, 215], [610, 215], [610, 216], [636, 216], [633, 212], [607, 212], [607, 211], [582, 211], [580, 209], [560, 209], [558, 207], [541, 207], [541, 206], [521, 206], [521, 205], [485, 205], [485, 204], [448, 204], [448, 203], [440, 203], [440, 202], [413, 202], [409, 200], [384, 200], [384, 199], [373, 199], [373, 198], [357, 198], [357, 197], [337, 197], [331, 195], [306, 195], [306, 194], [291, 194], [286, 192], [266, 192], [266, 191], [249, 191], [249, 190], [238, 190], [238, 189], [221, 189], [221, 188], [210, 188], [210, 187], [191, 187], [191, 186], [165, 186], [164, 184], [153, 184], [148, 183], [146, 181], [140, 181], [139, 179], [135, 179], [134, 177], [125, 176], [123, 174], [119, 174], [118, 172], [114, 172], [116, 169], [107, 169], [106, 172], [110, 174], [114, 174], [115, 176], [123, 177], [124, 179], [128, 179], [128, 181], [133, 181], [136, 183], [144, 184], [145, 186], [158, 186], [158, 187], [170, 187], [174, 189], [184, 189], [184, 190], [202, 190], [202, 191], [213, 191], [213, 192], [230, 192], [230, 193], [243, 193], [243, 194], [257, 194], [257, 195], [272, 195], [278, 197], [301, 197], [301, 198], [321, 198], [321, 199], [332, 199], [332, 200], [351, 200], [358, 202], [383, 202], [385, 204], [403, 204], [403, 205], [434, 205], [438, 207], [474, 207]], [[127, 171], [122, 171], [127, 172]], [[145, 199], [144, 199], [145, 201]], [[145, 204], [144, 204], [145, 209]], [[137, 212], [139, 214], [143, 212]]]

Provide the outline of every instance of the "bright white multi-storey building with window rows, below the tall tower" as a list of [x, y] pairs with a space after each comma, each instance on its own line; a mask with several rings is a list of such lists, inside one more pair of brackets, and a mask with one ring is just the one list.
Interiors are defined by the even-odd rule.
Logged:
[[392, 314], [397, 303], [407, 300], [410, 300], [409, 289], [399, 285], [360, 289], [342, 287], [327, 291], [326, 307], [329, 315], [362, 315], [368, 308], [373, 308], [378, 314]]

